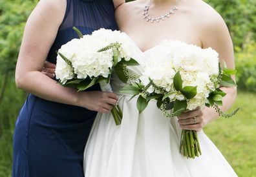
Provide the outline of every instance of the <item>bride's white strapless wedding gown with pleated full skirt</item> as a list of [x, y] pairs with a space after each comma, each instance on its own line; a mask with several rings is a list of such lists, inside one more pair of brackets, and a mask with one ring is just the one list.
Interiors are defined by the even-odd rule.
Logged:
[[[134, 44], [135, 45], [135, 44]], [[137, 47], [138, 48], [138, 47]], [[152, 49], [152, 48], [151, 48]], [[135, 59], [144, 65], [151, 49], [138, 49]], [[131, 72], [142, 69], [130, 67]], [[124, 86], [112, 76], [112, 90]], [[123, 96], [122, 124], [116, 126], [111, 114], [98, 113], [84, 154], [85, 177], [233, 177], [228, 161], [201, 130], [198, 139], [202, 155], [187, 159], [179, 152], [181, 129], [176, 118], [165, 118], [155, 101], [138, 113], [136, 98]]]

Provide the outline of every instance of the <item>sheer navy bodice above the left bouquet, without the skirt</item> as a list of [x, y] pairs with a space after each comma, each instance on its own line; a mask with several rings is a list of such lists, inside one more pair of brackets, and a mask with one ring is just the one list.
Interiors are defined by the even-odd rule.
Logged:
[[73, 26], [76, 26], [83, 35], [91, 34], [100, 28], [116, 30], [112, 0], [67, 1], [65, 17], [59, 26], [56, 41], [50, 49], [47, 61], [56, 63], [56, 50], [71, 39], [78, 38], [72, 29]]

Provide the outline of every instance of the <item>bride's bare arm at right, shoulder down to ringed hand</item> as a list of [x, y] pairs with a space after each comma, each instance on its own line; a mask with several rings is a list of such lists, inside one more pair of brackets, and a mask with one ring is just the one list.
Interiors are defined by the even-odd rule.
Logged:
[[[235, 68], [233, 44], [228, 32], [228, 28], [222, 17], [216, 12], [211, 14], [208, 22], [202, 26], [202, 46], [203, 48], [211, 47], [219, 53], [219, 58], [225, 61], [228, 68]], [[233, 79], [235, 77], [233, 76]], [[223, 99], [223, 106], [220, 109], [225, 112], [235, 101], [237, 88], [236, 87], [221, 87], [226, 92]], [[196, 123], [193, 124], [193, 118], [196, 117]], [[209, 122], [219, 118], [219, 114], [213, 108], [197, 109], [186, 112], [179, 117], [178, 122], [182, 129], [200, 130]], [[190, 124], [190, 125], [189, 125]]]

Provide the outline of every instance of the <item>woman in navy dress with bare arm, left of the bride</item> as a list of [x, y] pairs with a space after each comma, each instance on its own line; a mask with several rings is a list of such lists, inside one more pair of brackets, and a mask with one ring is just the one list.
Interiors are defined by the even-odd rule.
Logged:
[[83, 150], [96, 112], [107, 113], [117, 96], [98, 86], [76, 92], [41, 68], [56, 50], [99, 28], [116, 30], [114, 8], [123, 0], [41, 0], [30, 15], [16, 67], [16, 85], [30, 92], [14, 132], [13, 177], [82, 177]]

